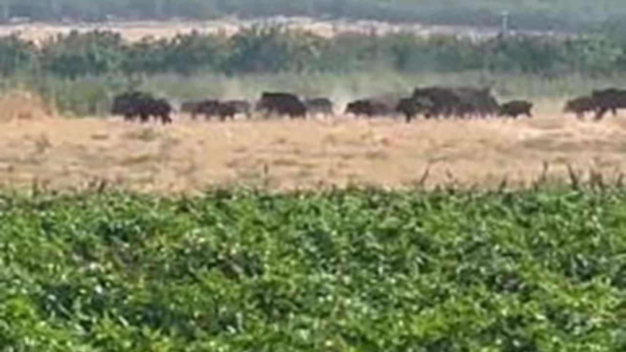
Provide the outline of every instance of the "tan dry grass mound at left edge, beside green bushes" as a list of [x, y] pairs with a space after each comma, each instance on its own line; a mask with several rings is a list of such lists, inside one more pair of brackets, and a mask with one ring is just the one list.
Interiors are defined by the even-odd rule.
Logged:
[[0, 122], [56, 118], [58, 111], [37, 93], [9, 90], [0, 96]]

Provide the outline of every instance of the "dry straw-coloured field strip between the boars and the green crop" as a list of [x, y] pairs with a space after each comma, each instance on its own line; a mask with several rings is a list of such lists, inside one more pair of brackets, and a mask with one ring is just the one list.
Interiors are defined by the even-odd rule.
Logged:
[[[578, 122], [560, 113], [518, 121], [252, 120], [138, 125], [102, 118], [0, 122], [0, 185], [141, 191], [246, 184], [279, 189], [376, 184], [528, 184], [545, 165], [617, 177], [626, 120]], [[426, 172], [428, 170], [428, 172]]]

